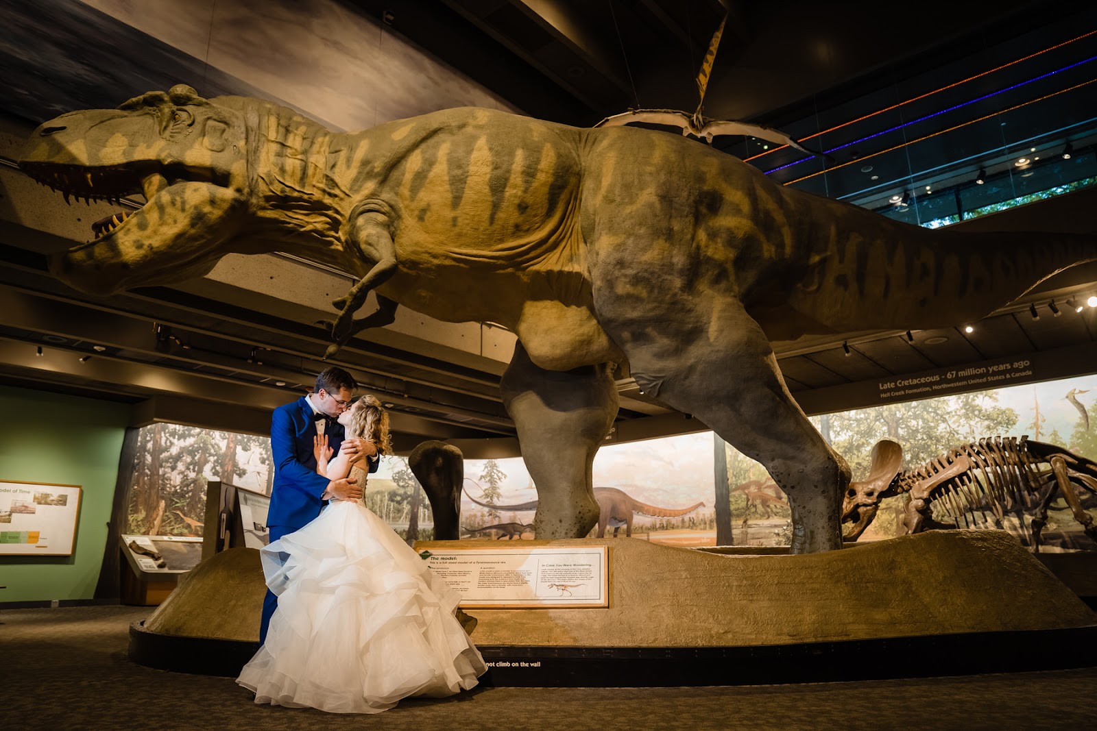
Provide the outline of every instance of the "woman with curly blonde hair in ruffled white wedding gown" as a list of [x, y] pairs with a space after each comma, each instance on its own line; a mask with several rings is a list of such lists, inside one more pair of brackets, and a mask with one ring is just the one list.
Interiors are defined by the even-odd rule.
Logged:
[[[392, 454], [388, 413], [372, 396], [339, 416], [348, 436]], [[317, 471], [367, 473], [317, 437]], [[376, 713], [408, 696], [476, 685], [486, 666], [454, 618], [460, 596], [360, 501], [332, 500], [319, 517], [260, 553], [279, 595], [267, 641], [237, 683], [256, 703]]]

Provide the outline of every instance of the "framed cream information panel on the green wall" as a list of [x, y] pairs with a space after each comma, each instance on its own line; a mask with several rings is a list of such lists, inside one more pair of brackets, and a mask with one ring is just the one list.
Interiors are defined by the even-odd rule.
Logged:
[[0, 481], [0, 556], [71, 556], [77, 484]]

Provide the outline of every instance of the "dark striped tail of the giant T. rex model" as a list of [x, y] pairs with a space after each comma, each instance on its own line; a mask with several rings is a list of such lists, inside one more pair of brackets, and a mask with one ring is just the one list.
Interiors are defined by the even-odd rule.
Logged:
[[832, 201], [805, 207], [816, 230], [801, 230], [807, 270], [789, 298], [804, 332], [971, 322], [1097, 260], [1097, 235], [929, 230]]

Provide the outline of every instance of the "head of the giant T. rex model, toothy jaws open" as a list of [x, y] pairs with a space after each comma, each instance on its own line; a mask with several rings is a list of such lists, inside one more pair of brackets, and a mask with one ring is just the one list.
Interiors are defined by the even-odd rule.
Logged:
[[142, 208], [98, 221], [91, 241], [50, 258], [56, 276], [89, 293], [205, 274], [247, 210], [244, 115], [183, 84], [50, 119], [19, 164], [66, 202], [144, 194]]

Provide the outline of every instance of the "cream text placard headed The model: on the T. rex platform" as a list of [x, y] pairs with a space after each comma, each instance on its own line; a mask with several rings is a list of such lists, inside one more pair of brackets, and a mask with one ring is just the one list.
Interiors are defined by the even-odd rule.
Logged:
[[431, 548], [430, 568], [474, 608], [609, 606], [607, 547]]

